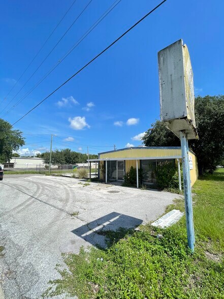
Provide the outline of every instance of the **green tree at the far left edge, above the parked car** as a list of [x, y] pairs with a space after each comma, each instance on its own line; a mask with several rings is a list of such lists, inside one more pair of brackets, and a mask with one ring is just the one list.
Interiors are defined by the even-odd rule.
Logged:
[[0, 118], [0, 163], [9, 162], [13, 152], [25, 144], [22, 132], [12, 128], [9, 122]]

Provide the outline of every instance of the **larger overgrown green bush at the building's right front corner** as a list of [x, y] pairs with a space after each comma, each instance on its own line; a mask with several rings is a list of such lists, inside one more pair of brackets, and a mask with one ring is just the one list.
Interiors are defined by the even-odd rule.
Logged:
[[[183, 177], [181, 168], [181, 177]], [[181, 179], [181, 182], [183, 180]], [[156, 172], [156, 184], [159, 188], [176, 189], [179, 187], [178, 168], [176, 165], [170, 163], [165, 165], [158, 165]]]

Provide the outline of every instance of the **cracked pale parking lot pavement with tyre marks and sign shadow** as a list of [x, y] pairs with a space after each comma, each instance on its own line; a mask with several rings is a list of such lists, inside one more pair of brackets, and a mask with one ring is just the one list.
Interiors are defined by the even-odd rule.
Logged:
[[0, 182], [0, 283], [6, 299], [41, 298], [48, 281], [58, 277], [54, 267], [62, 262], [61, 252], [106, 246], [100, 230], [155, 220], [178, 197], [84, 183], [44, 175], [5, 175]]

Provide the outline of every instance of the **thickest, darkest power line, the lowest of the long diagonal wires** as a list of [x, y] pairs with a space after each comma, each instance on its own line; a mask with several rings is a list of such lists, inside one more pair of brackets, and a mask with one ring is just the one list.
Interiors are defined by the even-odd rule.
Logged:
[[151, 11], [149, 11], [144, 17], [142, 17], [139, 21], [137, 21], [133, 26], [131, 26], [127, 31], [125, 31], [121, 36], [119, 36], [114, 42], [112, 42], [108, 47], [106, 47], [102, 52], [100, 52], [97, 56], [92, 58], [86, 65], [84, 65], [79, 71], [77, 71], [75, 74], [73, 74], [68, 80], [63, 82], [60, 86], [58, 86], [52, 93], [50, 93], [46, 98], [44, 98], [40, 103], [38, 103], [35, 107], [30, 109], [28, 112], [26, 112], [22, 117], [18, 119], [12, 126], [14, 126], [16, 123], [21, 121], [23, 117], [25, 117], [28, 113], [36, 109], [39, 105], [41, 105], [44, 101], [46, 101], [50, 96], [52, 96], [58, 89], [60, 89], [63, 85], [68, 83], [73, 77], [78, 75], [83, 69], [85, 69], [88, 65], [90, 65], [95, 59], [97, 59], [99, 56], [101, 56], [104, 52], [106, 52], [109, 48], [111, 48], [115, 43], [117, 43], [123, 36], [125, 36], [127, 33], [129, 33], [135, 26], [137, 26], [141, 21], [143, 21], [147, 16], [149, 16], [152, 12], [154, 12], [157, 8], [159, 8], [161, 5], [163, 5], [167, 0], [162, 1], [159, 3], [155, 8], [153, 8]]

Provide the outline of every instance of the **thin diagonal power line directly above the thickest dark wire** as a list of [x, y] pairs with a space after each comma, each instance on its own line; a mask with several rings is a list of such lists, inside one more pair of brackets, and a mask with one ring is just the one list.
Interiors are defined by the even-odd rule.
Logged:
[[[117, 3], [116, 3], [117, 2]], [[38, 87], [40, 85], [41, 82], [43, 82], [52, 72], [54, 69], [56, 69], [56, 67], [62, 63], [62, 61], [71, 54], [71, 52], [90, 34], [90, 32], [97, 26], [100, 24], [101, 21], [103, 21], [103, 19], [121, 2], [121, 0], [119, 1], [115, 1], [108, 10], [106, 10], [101, 17], [95, 21], [95, 23], [81, 36], [81, 38], [70, 48], [70, 50], [59, 59], [59, 61], [41, 78], [41, 80], [34, 85], [31, 89], [29, 89], [28, 93], [26, 93], [14, 106], [12, 106], [9, 111], [5, 112], [5, 114], [2, 116], [6, 116], [8, 113], [10, 113], [16, 106], [18, 106], [31, 92], [34, 91], [34, 89], [36, 87]], [[115, 4], [116, 3], [116, 4]]]

